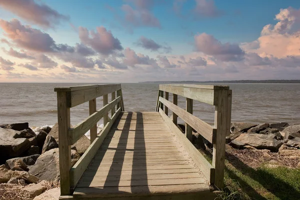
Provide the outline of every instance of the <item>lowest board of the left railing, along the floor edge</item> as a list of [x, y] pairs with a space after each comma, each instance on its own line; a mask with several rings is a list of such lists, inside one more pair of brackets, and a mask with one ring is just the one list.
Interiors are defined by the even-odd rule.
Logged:
[[117, 109], [114, 115], [111, 117], [111, 120], [103, 127], [99, 136], [89, 145], [83, 155], [79, 158], [79, 160], [75, 163], [75, 165], [69, 171], [70, 174], [70, 184], [72, 187], [76, 185], [82, 173], [88, 166], [90, 160], [94, 157], [97, 152], [99, 146], [102, 144], [106, 134], [108, 133], [112, 123], [120, 113], [121, 109]]

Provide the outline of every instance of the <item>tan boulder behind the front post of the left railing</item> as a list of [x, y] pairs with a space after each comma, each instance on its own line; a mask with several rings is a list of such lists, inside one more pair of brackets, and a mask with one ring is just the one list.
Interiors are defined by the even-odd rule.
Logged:
[[[49, 135], [54, 137], [56, 142], [59, 144], [59, 140], [58, 140], [58, 123], [55, 123], [55, 125], [52, 127], [51, 131], [49, 132]], [[76, 146], [77, 152], [80, 155], [82, 155], [85, 152], [85, 150], [88, 148], [89, 144], [90, 144], [90, 140], [85, 135], [83, 135], [72, 146]]]

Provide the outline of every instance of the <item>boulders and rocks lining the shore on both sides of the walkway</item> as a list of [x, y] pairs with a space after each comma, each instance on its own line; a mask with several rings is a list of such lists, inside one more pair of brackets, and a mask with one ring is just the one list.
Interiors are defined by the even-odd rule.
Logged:
[[[184, 125], [178, 124], [178, 127], [184, 133]], [[28, 123], [0, 124], [0, 138], [0, 184], [22, 185], [21, 190], [29, 198], [39, 199], [38, 195], [46, 190], [45, 181], [59, 180], [57, 123], [35, 132]], [[199, 149], [212, 149], [212, 144], [197, 132], [193, 132], [192, 143]], [[89, 144], [84, 135], [72, 145], [72, 165]], [[300, 167], [300, 124], [233, 122], [226, 136], [226, 150], [230, 150], [229, 147], [235, 151], [261, 151], [262, 156], [277, 153], [281, 158], [296, 162], [288, 167]]]

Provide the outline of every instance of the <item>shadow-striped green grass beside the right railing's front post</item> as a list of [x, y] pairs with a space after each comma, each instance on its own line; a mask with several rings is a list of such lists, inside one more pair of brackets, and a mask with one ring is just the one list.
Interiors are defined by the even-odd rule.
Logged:
[[[251, 164], [246, 163], [245, 154], [241, 158], [236, 153], [238, 150], [233, 151], [226, 153], [225, 187], [220, 199], [300, 199], [299, 168], [270, 168], [265, 162], [256, 162], [255, 166], [249, 166], [253, 165], [253, 160], [248, 158]], [[210, 153], [204, 152], [204, 156], [211, 162]]]

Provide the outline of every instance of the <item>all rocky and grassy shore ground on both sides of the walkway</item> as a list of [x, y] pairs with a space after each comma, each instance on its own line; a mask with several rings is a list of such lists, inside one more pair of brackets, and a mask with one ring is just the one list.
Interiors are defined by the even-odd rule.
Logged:
[[[178, 127], [184, 133], [184, 125]], [[53, 187], [59, 194], [58, 125], [34, 130], [26, 122], [0, 124], [4, 199], [33, 199], [52, 193], [47, 190]], [[72, 145], [72, 165], [89, 143], [83, 135]], [[197, 132], [192, 143], [211, 162], [212, 144]], [[300, 124], [232, 122], [226, 136], [224, 183], [219, 199], [300, 199]]]

